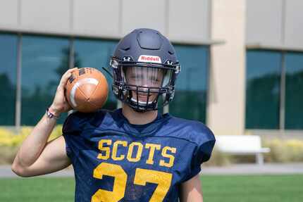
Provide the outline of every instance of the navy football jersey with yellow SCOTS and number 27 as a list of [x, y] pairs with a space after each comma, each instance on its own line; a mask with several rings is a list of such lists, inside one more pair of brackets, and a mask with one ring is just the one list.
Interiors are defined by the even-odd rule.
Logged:
[[179, 185], [209, 160], [214, 134], [169, 114], [132, 125], [122, 110], [72, 113], [63, 125], [75, 201], [178, 201]]

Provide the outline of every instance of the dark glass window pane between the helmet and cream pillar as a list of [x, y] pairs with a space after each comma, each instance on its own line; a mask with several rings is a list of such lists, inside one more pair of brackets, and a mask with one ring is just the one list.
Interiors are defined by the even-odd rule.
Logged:
[[209, 47], [175, 45], [175, 51], [181, 72], [169, 112], [180, 118], [205, 122]]

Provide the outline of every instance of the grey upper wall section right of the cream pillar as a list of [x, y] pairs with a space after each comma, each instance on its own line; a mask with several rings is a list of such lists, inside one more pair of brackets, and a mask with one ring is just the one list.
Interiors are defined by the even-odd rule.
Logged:
[[303, 49], [302, 0], [247, 0], [247, 44]]

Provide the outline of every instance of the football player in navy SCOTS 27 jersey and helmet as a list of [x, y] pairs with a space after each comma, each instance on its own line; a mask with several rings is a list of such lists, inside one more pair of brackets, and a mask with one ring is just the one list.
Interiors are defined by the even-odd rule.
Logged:
[[111, 58], [116, 111], [75, 112], [63, 136], [47, 142], [56, 118], [70, 110], [58, 85], [47, 114], [23, 142], [13, 163], [17, 175], [55, 172], [73, 164], [75, 201], [203, 201], [201, 164], [214, 134], [201, 122], [162, 115], [173, 100], [180, 64], [171, 43], [150, 29], [120, 40]]

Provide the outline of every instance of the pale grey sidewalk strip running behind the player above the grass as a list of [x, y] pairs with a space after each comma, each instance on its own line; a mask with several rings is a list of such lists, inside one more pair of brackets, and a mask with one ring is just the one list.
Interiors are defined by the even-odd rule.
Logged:
[[[225, 167], [203, 167], [202, 175], [285, 175], [302, 174], [303, 163], [236, 164]], [[73, 169], [61, 170], [43, 177], [73, 177]], [[0, 165], [0, 178], [18, 177], [10, 165]], [[40, 176], [41, 177], [41, 176]]]

